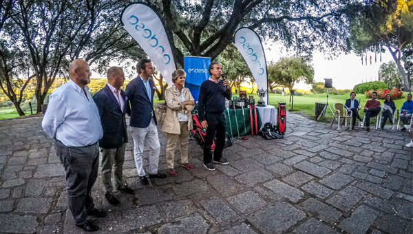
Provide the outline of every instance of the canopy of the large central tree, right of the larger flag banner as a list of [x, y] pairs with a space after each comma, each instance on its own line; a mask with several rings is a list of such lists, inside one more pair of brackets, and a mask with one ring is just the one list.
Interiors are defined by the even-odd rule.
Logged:
[[215, 59], [233, 42], [241, 26], [255, 30], [263, 39], [282, 41], [300, 54], [317, 49], [346, 50], [348, 17], [357, 1], [319, 0], [147, 0], [166, 24], [177, 63], [183, 56]]

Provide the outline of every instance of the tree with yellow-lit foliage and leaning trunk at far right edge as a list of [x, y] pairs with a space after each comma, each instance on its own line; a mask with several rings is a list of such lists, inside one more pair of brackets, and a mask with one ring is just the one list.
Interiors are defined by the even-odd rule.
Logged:
[[401, 63], [403, 50], [413, 46], [413, 1], [372, 0], [350, 23], [350, 46], [359, 54], [387, 47], [409, 90], [406, 71]]

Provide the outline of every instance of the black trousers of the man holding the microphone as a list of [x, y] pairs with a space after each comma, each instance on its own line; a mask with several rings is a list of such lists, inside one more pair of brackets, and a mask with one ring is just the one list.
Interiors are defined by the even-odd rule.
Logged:
[[225, 114], [212, 115], [206, 114], [205, 120], [207, 120], [207, 134], [204, 138], [204, 163], [212, 162], [211, 146], [213, 137], [215, 140], [215, 150], [213, 152], [213, 159], [220, 160], [222, 157], [222, 151], [225, 146]]

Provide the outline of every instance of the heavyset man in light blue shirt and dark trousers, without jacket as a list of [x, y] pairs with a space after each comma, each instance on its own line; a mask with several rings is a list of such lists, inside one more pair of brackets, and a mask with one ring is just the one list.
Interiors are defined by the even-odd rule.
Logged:
[[98, 108], [86, 86], [90, 83], [89, 65], [76, 59], [69, 65], [69, 75], [69, 82], [50, 95], [42, 127], [55, 140], [56, 154], [65, 169], [67, 204], [76, 226], [98, 231], [98, 226], [86, 218], [106, 216], [95, 209], [91, 194], [98, 177], [98, 140], [103, 131]]

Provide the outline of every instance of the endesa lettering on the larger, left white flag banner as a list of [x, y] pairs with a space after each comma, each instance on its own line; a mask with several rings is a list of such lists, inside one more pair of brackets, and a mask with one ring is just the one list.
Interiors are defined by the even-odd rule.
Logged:
[[155, 48], [155, 52], [158, 52], [158, 53], [162, 54], [162, 56], [163, 56], [162, 63], [168, 64], [171, 61], [171, 56], [169, 56], [168, 54], [163, 54], [165, 52], [165, 48], [162, 45], [158, 45], [159, 41], [156, 38], [156, 34], [152, 35], [152, 31], [149, 28], [145, 28], [144, 23], [139, 23], [138, 17], [136, 17], [132, 14], [131, 17], [129, 17], [129, 19], [127, 19], [127, 21], [131, 25], [136, 25], [135, 26], [136, 31], [140, 32], [140, 34], [145, 39], [148, 39], [147, 42], [149, 43], [149, 45], [151, 47]]

